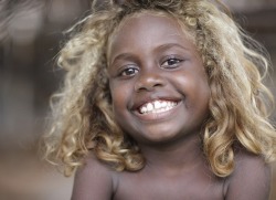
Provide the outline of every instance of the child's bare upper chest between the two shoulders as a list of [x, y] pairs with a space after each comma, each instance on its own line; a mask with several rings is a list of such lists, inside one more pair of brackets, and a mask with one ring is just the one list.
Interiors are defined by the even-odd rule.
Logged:
[[114, 200], [223, 200], [223, 179], [209, 173], [121, 173]]

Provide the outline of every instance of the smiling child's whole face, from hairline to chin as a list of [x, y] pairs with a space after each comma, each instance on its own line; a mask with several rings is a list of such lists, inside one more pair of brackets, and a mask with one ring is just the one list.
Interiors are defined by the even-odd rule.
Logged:
[[209, 110], [208, 77], [173, 19], [147, 13], [127, 19], [110, 41], [108, 62], [116, 120], [138, 143], [200, 131]]

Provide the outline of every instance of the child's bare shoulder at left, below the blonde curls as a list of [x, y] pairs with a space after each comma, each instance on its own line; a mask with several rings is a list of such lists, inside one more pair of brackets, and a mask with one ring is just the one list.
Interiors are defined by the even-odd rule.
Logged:
[[89, 155], [75, 173], [72, 200], [109, 200], [114, 191], [114, 171]]

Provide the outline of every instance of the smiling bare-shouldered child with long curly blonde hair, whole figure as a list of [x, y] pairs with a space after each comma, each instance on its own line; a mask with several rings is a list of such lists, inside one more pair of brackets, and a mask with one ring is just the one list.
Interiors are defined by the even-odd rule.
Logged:
[[268, 199], [268, 62], [222, 3], [110, 2], [74, 30], [44, 139], [72, 199]]

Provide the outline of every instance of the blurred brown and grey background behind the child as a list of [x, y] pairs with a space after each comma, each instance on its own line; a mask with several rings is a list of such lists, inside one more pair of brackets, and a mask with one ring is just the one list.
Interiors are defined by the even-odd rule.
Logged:
[[[224, 2], [242, 27], [268, 50], [276, 67], [276, 0]], [[91, 3], [0, 0], [1, 200], [70, 199], [73, 178], [64, 178], [39, 161], [38, 140], [43, 134], [49, 97], [62, 76], [55, 62], [65, 39], [63, 31], [82, 19]], [[270, 69], [269, 76], [266, 84], [276, 96], [276, 69]], [[274, 112], [274, 122], [275, 116]], [[276, 200], [275, 173], [270, 200]]]

